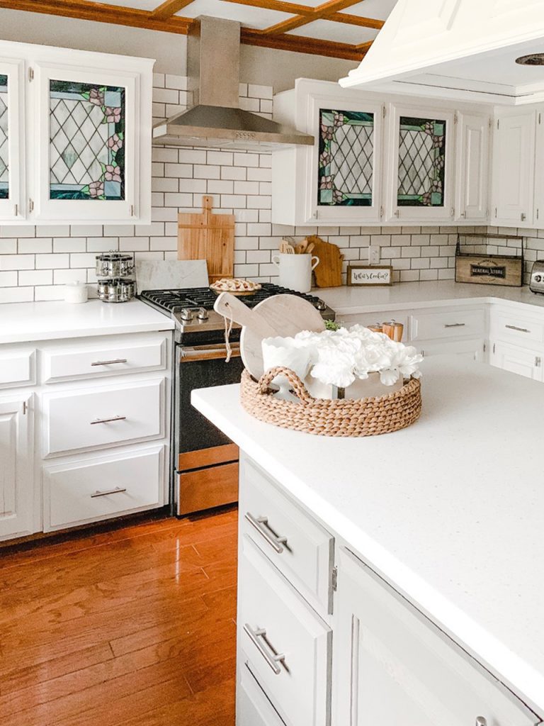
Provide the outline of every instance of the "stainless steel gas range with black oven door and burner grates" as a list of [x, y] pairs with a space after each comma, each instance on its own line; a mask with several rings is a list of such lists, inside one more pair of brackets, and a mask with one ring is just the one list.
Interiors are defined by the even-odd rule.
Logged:
[[[323, 318], [334, 319], [334, 311], [315, 295], [296, 293], [269, 282], [263, 283], [255, 295], [244, 297], [244, 303], [255, 307], [280, 293], [299, 295], [313, 303]], [[191, 406], [191, 391], [239, 383], [244, 367], [240, 329], [235, 326], [231, 332], [232, 356], [226, 363], [225, 321], [213, 310], [216, 296], [209, 287], [144, 290], [140, 298], [176, 322], [170, 492], [173, 513], [183, 516], [236, 502], [238, 447]]]

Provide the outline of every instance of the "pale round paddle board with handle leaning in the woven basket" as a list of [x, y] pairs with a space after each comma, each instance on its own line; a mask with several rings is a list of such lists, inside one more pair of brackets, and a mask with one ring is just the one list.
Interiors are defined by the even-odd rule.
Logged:
[[273, 295], [251, 309], [234, 295], [221, 293], [213, 308], [227, 320], [242, 325], [240, 355], [255, 380], [264, 372], [263, 338], [292, 336], [301, 330], [312, 330], [313, 333], [325, 330], [321, 313], [298, 295]]

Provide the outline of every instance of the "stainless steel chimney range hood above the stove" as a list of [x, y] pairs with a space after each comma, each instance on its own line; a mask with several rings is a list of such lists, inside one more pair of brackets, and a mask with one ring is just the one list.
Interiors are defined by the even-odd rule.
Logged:
[[269, 151], [311, 145], [313, 136], [239, 106], [240, 24], [199, 17], [187, 39], [187, 75], [194, 106], [153, 128], [153, 143]]

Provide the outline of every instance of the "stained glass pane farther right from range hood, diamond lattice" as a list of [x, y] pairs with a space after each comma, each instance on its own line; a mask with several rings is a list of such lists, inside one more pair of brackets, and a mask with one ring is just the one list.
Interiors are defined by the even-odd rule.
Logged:
[[400, 117], [399, 206], [444, 206], [445, 139], [445, 121]]

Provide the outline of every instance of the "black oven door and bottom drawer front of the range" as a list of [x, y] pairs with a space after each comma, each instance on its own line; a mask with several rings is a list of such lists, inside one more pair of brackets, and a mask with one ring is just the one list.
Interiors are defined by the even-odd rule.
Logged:
[[178, 347], [174, 412], [178, 515], [238, 500], [238, 447], [191, 406], [191, 391], [239, 383], [243, 369], [238, 344], [233, 344], [228, 363], [226, 347], [219, 343]]

